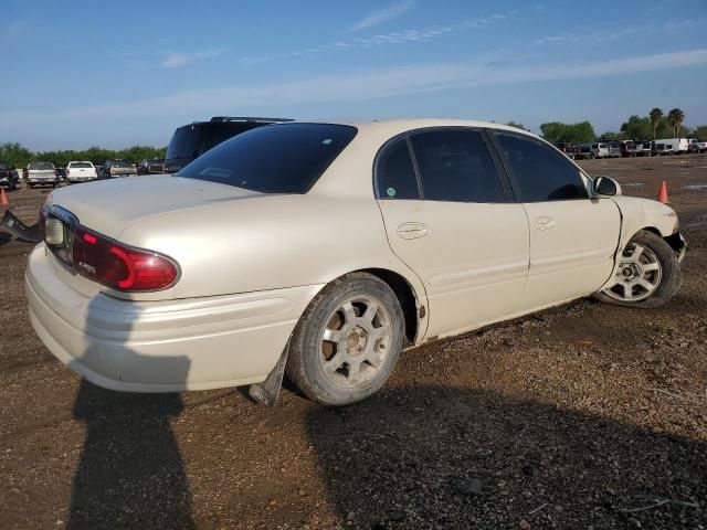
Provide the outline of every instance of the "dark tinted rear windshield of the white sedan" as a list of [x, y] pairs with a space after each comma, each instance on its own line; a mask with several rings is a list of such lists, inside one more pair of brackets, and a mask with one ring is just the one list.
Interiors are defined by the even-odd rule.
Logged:
[[177, 173], [262, 193], [306, 193], [356, 136], [346, 125], [283, 124], [243, 132]]

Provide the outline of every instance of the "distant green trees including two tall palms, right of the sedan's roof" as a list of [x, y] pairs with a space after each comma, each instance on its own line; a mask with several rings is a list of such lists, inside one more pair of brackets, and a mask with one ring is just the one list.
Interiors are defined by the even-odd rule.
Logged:
[[[619, 131], [608, 130], [601, 135], [594, 132], [589, 121], [562, 124], [550, 121], [540, 125], [540, 134], [546, 140], [558, 144], [589, 144], [597, 140], [655, 140], [656, 138], [700, 138], [707, 139], [707, 125], [694, 129], [685, 127], [685, 113], [673, 108], [664, 114], [653, 108], [647, 116], [633, 115], [621, 124]], [[509, 124], [510, 125], [510, 124]]]

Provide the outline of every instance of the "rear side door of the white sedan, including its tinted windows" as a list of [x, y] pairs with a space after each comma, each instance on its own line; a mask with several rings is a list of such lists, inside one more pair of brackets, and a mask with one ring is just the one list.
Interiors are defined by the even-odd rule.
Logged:
[[412, 131], [381, 149], [376, 189], [393, 252], [422, 279], [428, 337], [516, 312], [528, 268], [528, 222], [486, 132]]

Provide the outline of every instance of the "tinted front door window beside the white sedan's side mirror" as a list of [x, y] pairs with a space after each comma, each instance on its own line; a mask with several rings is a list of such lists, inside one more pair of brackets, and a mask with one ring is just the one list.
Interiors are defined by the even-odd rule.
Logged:
[[579, 170], [547, 146], [518, 135], [495, 132], [524, 202], [587, 199]]

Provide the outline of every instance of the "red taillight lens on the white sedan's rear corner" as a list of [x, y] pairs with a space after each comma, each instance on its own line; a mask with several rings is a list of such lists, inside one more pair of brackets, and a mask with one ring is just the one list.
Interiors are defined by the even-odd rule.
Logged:
[[130, 248], [77, 229], [73, 250], [78, 274], [117, 290], [159, 290], [178, 276], [177, 265], [149, 251]]

